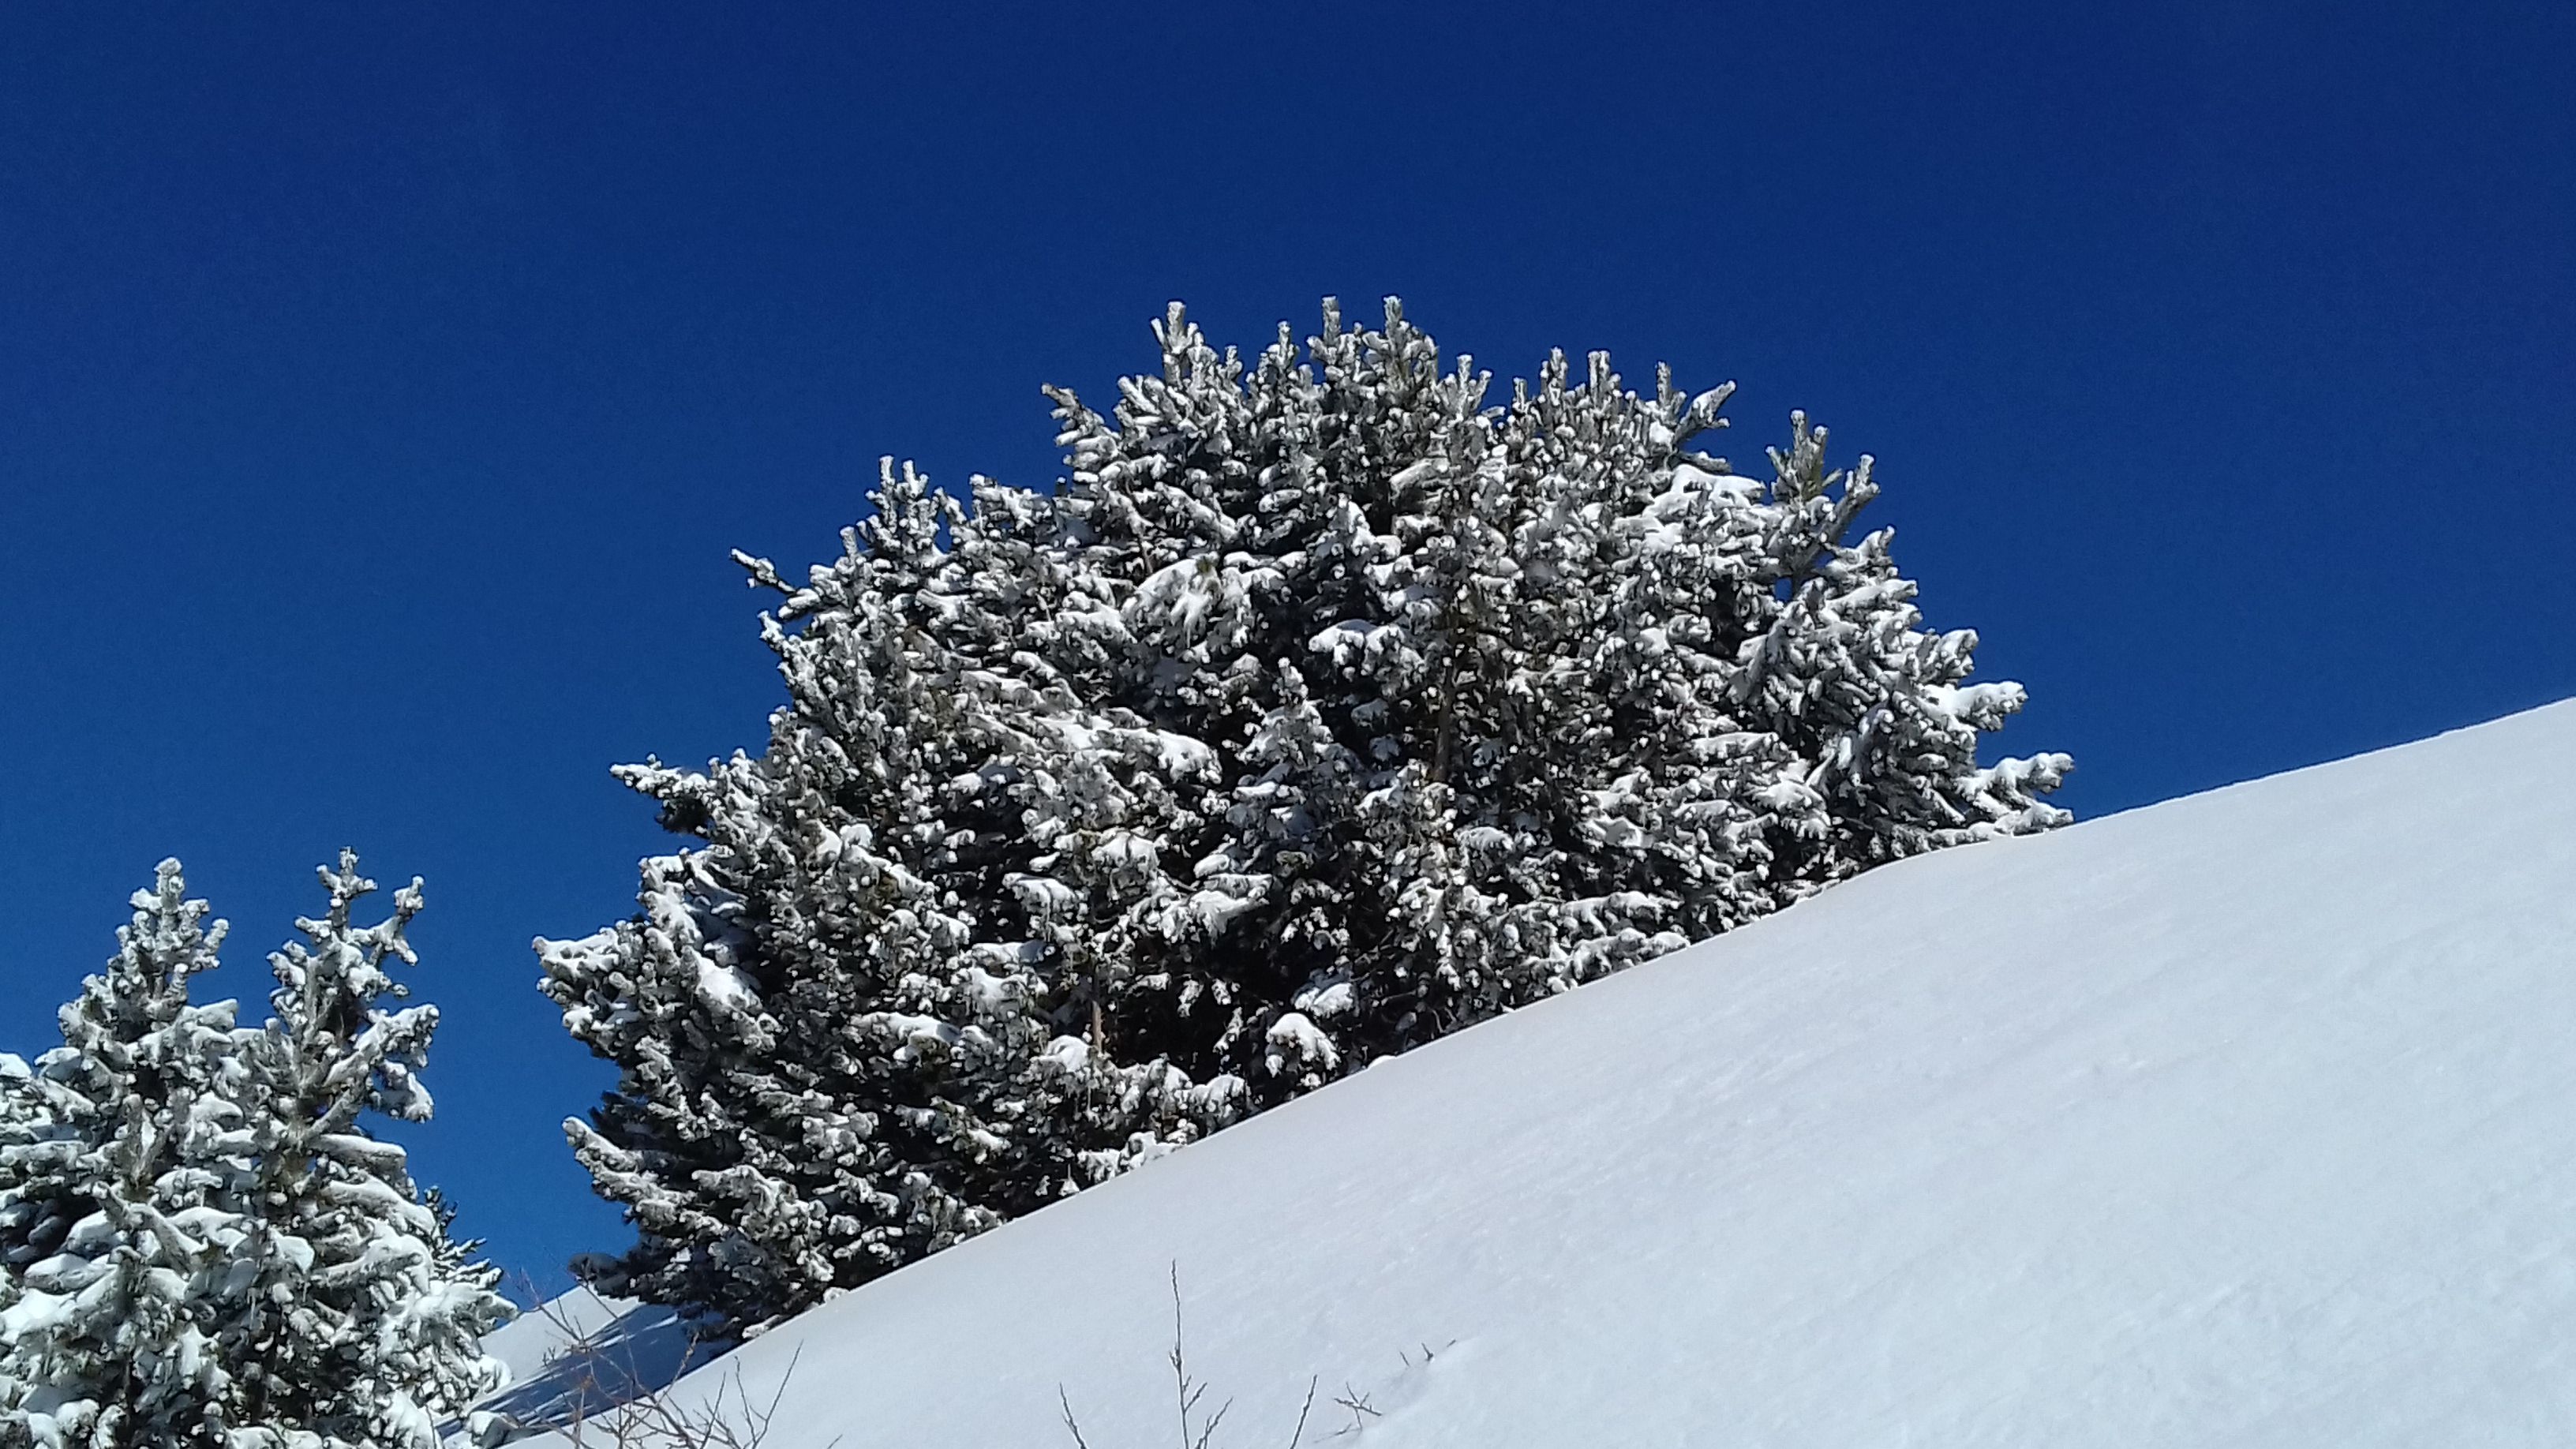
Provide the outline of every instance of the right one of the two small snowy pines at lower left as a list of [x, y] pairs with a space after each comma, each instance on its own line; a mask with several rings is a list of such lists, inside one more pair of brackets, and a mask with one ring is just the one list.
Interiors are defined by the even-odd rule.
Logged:
[[420, 882], [358, 926], [358, 856], [322, 866], [330, 910], [270, 954], [273, 1018], [242, 1042], [250, 1207], [224, 1240], [216, 1346], [232, 1364], [227, 1449], [435, 1449], [438, 1423], [500, 1387], [482, 1336], [510, 1320], [497, 1274], [464, 1261], [368, 1116], [428, 1122], [433, 1006], [392, 1006], [417, 964]]

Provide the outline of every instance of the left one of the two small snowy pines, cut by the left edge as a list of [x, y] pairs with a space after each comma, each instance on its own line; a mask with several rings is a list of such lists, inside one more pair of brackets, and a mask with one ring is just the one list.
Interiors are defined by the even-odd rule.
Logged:
[[234, 1008], [188, 1003], [222, 938], [162, 861], [62, 1008], [62, 1047], [0, 1070], [0, 1444], [222, 1444], [227, 1366], [201, 1307], [229, 1222]]

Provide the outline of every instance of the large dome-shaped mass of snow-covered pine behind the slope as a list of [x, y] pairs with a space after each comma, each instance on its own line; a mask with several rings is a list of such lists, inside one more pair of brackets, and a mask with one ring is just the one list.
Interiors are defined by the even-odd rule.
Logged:
[[1492, 405], [1394, 302], [1327, 302], [1303, 356], [1285, 327], [1218, 353], [1177, 304], [1157, 340], [1110, 418], [1051, 389], [1054, 495], [958, 508], [889, 464], [804, 588], [744, 559], [786, 593], [768, 753], [623, 771], [698, 843], [647, 861], [636, 920], [541, 944], [623, 1070], [572, 1127], [641, 1230], [618, 1287], [770, 1320], [1852, 871], [2063, 820], [2063, 755], [1978, 766], [2020, 688], [1919, 629], [1888, 534], [1847, 536], [1868, 462], [1826, 472], [1803, 418], [1757, 482], [1695, 451], [1728, 387], [1553, 356]]

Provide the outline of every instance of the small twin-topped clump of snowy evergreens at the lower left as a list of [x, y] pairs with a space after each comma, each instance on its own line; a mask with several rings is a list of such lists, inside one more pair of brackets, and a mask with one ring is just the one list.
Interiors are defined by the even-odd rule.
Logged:
[[433, 1449], [497, 1387], [497, 1271], [363, 1127], [430, 1109], [435, 1013], [381, 1008], [417, 882], [371, 928], [353, 856], [325, 884], [265, 1029], [191, 1006], [224, 926], [165, 861], [64, 1044], [0, 1060], [0, 1446]]

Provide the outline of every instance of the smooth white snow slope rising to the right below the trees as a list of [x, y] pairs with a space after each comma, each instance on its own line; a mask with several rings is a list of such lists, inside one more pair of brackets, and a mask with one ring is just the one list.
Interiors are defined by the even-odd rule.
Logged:
[[1175, 1271], [1211, 1446], [2576, 1444], [2576, 701], [1875, 871], [677, 1392], [1167, 1449]]

